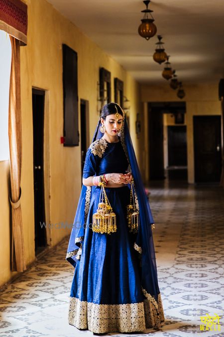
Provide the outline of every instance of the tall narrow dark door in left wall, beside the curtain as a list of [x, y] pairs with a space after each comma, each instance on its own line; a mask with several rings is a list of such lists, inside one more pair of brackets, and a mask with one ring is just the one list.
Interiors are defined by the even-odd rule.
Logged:
[[34, 178], [34, 218], [35, 253], [46, 246], [45, 208], [44, 208], [44, 97], [42, 90], [32, 89], [33, 107], [33, 178]]

